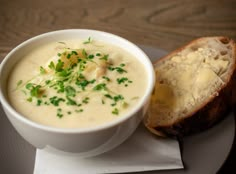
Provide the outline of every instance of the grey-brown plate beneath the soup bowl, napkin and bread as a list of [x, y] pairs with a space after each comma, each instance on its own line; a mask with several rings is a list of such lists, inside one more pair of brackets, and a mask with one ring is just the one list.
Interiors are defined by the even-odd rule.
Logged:
[[[157, 48], [140, 47], [152, 61], [166, 54]], [[233, 114], [230, 114], [213, 128], [184, 139], [182, 144], [184, 170], [154, 171], [145, 174], [216, 173], [230, 152], [234, 134], [235, 120]], [[16, 133], [0, 107], [0, 173], [32, 174], [34, 158], [35, 149]]]

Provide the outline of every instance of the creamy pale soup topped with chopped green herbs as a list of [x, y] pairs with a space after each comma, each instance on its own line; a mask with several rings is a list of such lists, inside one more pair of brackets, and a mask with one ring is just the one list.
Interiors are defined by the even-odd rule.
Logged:
[[140, 61], [117, 46], [88, 38], [31, 50], [10, 74], [8, 96], [30, 120], [83, 128], [122, 117], [146, 87], [147, 74]]

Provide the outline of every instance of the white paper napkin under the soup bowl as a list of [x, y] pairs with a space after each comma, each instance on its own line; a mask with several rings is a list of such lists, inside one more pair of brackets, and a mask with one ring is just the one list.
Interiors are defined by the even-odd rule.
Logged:
[[102, 155], [81, 158], [37, 149], [34, 174], [126, 173], [183, 168], [177, 140], [151, 135], [143, 125], [123, 144]]

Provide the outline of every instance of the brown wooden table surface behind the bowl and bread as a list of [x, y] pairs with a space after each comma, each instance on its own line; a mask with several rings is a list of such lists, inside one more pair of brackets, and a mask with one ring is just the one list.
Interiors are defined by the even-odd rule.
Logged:
[[[137, 44], [171, 51], [201, 36], [226, 35], [236, 40], [236, 2], [0, 0], [0, 60], [26, 39], [68, 28], [103, 30]], [[235, 148], [221, 172], [235, 171], [233, 156]]]

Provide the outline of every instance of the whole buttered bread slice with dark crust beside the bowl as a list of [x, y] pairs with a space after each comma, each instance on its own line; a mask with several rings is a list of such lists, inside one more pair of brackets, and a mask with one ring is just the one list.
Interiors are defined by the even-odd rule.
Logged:
[[235, 59], [234, 41], [226, 37], [199, 38], [159, 59], [146, 127], [184, 136], [214, 125], [235, 101]]

